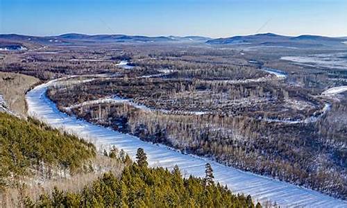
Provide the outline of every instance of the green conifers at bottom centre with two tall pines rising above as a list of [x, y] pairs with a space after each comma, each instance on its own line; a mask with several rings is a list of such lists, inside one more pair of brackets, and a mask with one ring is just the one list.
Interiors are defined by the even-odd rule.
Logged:
[[204, 178], [184, 178], [178, 166], [173, 171], [149, 168], [146, 153], [137, 150], [137, 163], [124, 168], [121, 177], [105, 173], [78, 193], [55, 189], [37, 201], [26, 199], [27, 207], [262, 207], [251, 196], [234, 195], [213, 182], [206, 164]]

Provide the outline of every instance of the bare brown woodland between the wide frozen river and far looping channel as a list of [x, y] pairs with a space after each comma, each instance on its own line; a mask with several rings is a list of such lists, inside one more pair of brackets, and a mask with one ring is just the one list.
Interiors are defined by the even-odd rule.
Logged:
[[[343, 102], [334, 103], [327, 116], [320, 109], [323, 102], [307, 96], [303, 89], [172, 78], [96, 79], [83, 85], [51, 87], [47, 94], [62, 111], [145, 141], [346, 196], [346, 151], [342, 148], [346, 125], [327, 128], [324, 123], [333, 121], [328, 119], [332, 114], [344, 112]], [[130, 98], [136, 105], [116, 101], [88, 104], [112, 96]], [[312, 114], [321, 119], [285, 122]], [[290, 116], [291, 120], [282, 123], [265, 120]]]

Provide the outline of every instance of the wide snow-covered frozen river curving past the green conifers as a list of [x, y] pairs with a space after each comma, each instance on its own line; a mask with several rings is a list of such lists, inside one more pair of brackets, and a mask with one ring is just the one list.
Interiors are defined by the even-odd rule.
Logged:
[[184, 155], [166, 146], [141, 141], [132, 135], [103, 128], [87, 121], [76, 119], [60, 112], [56, 105], [46, 97], [45, 92], [52, 81], [35, 87], [26, 95], [28, 114], [35, 116], [55, 128], [62, 128], [79, 137], [91, 139], [98, 147], [113, 146], [124, 149], [135, 157], [137, 148], [142, 147], [148, 155], [151, 166], [173, 168], [177, 164], [185, 176], [190, 174], [203, 177], [205, 163], [210, 162], [215, 180], [227, 184], [234, 193], [251, 194], [255, 200], [276, 201], [281, 207], [347, 207], [347, 202], [337, 200], [323, 193], [296, 187], [286, 182], [272, 180], [252, 173], [224, 166], [210, 159]]

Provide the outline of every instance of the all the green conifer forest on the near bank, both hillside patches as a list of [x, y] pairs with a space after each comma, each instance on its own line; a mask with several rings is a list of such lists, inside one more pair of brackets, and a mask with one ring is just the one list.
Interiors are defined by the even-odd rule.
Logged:
[[[16, 204], [20, 207], [262, 207], [254, 204], [251, 196], [234, 195], [228, 187], [213, 182], [213, 170], [207, 165], [206, 177], [184, 178], [178, 166], [169, 171], [150, 168], [146, 153], [139, 148], [137, 162], [132, 162], [124, 150], [104, 150], [103, 156], [119, 168], [106, 171], [80, 189], [65, 186], [37, 191], [40, 196], [27, 193], [31, 185], [28, 177], [45, 175], [46, 182], [58, 180], [56, 175], [69, 177], [93, 170], [96, 153], [93, 144], [59, 132], [40, 121], [0, 112], [0, 199], [6, 191], [19, 190]], [[122, 164], [122, 165], [119, 165]], [[123, 169], [123, 166], [125, 168]], [[101, 168], [107, 169], [103, 166]], [[62, 172], [61, 172], [62, 170]], [[93, 173], [94, 172], [94, 173]], [[89, 174], [90, 174], [89, 173]], [[71, 175], [71, 176], [66, 176]], [[78, 177], [91, 177], [78, 175]], [[91, 177], [93, 178], [93, 177]], [[81, 180], [81, 179], [80, 179]], [[24, 185], [26, 182], [29, 184]], [[23, 184], [22, 184], [23, 183]], [[66, 182], [65, 182], [66, 183]], [[29, 187], [28, 187], [29, 186]], [[43, 189], [43, 187], [41, 188]], [[29, 188], [30, 190], [30, 188]], [[16, 193], [17, 192], [12, 192]], [[5, 194], [3, 196], [3, 194]], [[13, 199], [13, 196], [12, 196]]]

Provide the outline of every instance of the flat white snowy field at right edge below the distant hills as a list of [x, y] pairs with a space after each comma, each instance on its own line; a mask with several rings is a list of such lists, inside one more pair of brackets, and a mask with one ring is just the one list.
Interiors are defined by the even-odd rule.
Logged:
[[283, 56], [281, 60], [296, 62], [309, 67], [347, 69], [347, 53], [323, 53], [307, 56]]

